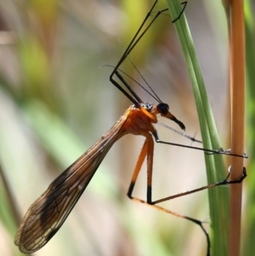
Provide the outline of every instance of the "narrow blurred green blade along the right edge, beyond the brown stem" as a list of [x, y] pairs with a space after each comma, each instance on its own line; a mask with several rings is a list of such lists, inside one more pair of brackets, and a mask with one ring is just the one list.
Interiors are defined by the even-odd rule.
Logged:
[[[248, 179], [245, 180], [246, 184], [246, 208], [243, 211], [244, 215], [244, 232], [243, 232], [243, 245], [242, 254], [252, 256], [255, 253], [253, 237], [255, 236], [255, 173], [252, 170], [255, 168], [255, 37], [254, 37], [254, 14], [252, 13], [252, 1], [246, 1], [245, 5], [245, 19], [246, 19], [246, 145], [249, 153], [249, 162], [247, 166]], [[249, 172], [251, 170], [251, 172]]]

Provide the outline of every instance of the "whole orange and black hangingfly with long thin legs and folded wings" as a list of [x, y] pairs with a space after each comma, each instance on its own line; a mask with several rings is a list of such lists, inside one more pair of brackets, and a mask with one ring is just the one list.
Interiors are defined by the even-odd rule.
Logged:
[[[152, 90], [152, 88], [150, 88], [148, 84], [147, 85], [150, 91], [148, 91], [147, 89], [145, 90], [158, 102], [158, 104], [144, 104], [144, 101], [139, 98], [139, 96], [133, 91], [133, 89], [121, 76], [118, 68], [127, 58], [128, 54], [130, 54], [133, 47], [136, 45], [136, 43], [139, 42], [139, 39], [148, 30], [154, 20], [156, 20], [156, 17], [158, 17], [161, 12], [166, 11], [166, 9], [164, 9], [157, 13], [154, 19], [150, 22], [149, 26], [147, 26], [144, 31], [140, 33], [145, 21], [150, 17], [152, 10], [156, 5], [156, 2], [150, 9], [150, 12], [147, 14], [143, 24], [139, 27], [139, 31], [137, 31], [137, 33], [133, 37], [133, 40], [128, 45], [126, 51], [122, 55], [121, 60], [112, 71], [110, 77], [111, 82], [116, 86], [116, 88], [120, 89], [129, 100], [133, 102], [133, 105], [127, 108], [127, 111], [124, 112], [122, 117], [120, 117], [120, 119], [110, 129], [108, 133], [103, 135], [96, 144], [94, 144], [90, 149], [88, 149], [88, 151], [80, 156], [80, 158], [78, 158], [76, 162], [71, 164], [71, 166], [67, 168], [62, 174], [60, 174], [59, 177], [54, 179], [54, 181], [48, 186], [48, 190], [45, 191], [42, 196], [40, 196], [37, 201], [34, 202], [28, 209], [14, 239], [15, 244], [20, 247], [20, 251], [22, 253], [36, 252], [56, 234], [61, 225], [63, 225], [63, 223], [65, 222], [65, 219], [68, 217], [69, 213], [71, 213], [72, 208], [74, 208], [80, 196], [82, 196], [82, 192], [86, 189], [90, 179], [93, 178], [95, 171], [99, 168], [100, 163], [103, 161], [107, 152], [111, 149], [111, 146], [116, 142], [116, 140], [121, 139], [122, 136], [124, 136], [125, 134], [134, 134], [144, 136], [145, 141], [139, 154], [139, 159], [137, 161], [136, 167], [133, 171], [133, 177], [127, 191], [127, 196], [129, 196], [134, 201], [149, 204], [154, 208], [160, 209], [167, 213], [171, 213], [184, 219], [189, 219], [195, 224], [200, 225], [201, 229], [207, 236], [207, 255], [209, 255], [209, 236], [207, 235], [207, 231], [204, 229], [201, 221], [186, 217], [178, 213], [173, 213], [172, 211], [157, 206], [156, 203], [164, 202], [178, 196], [184, 196], [189, 193], [194, 193], [196, 191], [202, 191], [204, 189], [211, 188], [217, 185], [241, 182], [241, 180], [245, 178], [246, 173], [244, 169], [244, 175], [242, 179], [238, 181], [228, 181], [227, 177], [223, 181], [213, 185], [207, 185], [193, 191], [180, 193], [174, 196], [168, 196], [154, 202], [152, 201], [151, 185], [154, 151], [153, 138], [156, 139], [157, 143], [177, 145], [170, 142], [161, 141], [156, 133], [156, 128], [154, 128], [153, 124], [157, 122], [157, 116], [160, 115], [161, 117], [165, 117], [172, 120], [173, 122], [176, 122], [178, 126], [183, 130], [185, 129], [185, 126], [183, 122], [180, 122], [176, 117], [173, 116], [173, 114], [169, 111], [169, 106], [159, 99], [159, 97], [155, 94], [155, 92]], [[184, 3], [184, 8], [185, 6], [186, 2]], [[183, 14], [183, 11], [184, 9], [182, 10], [178, 18], [174, 21], [179, 19], [181, 14]], [[122, 86], [120, 86], [119, 83], [113, 79], [114, 75], [119, 78], [119, 80], [123, 83], [127, 90], [122, 88]], [[197, 150], [207, 151], [214, 154], [238, 156], [232, 154], [229, 151], [207, 150], [187, 145], [181, 146], [195, 148]], [[132, 193], [133, 187], [139, 174], [139, 170], [145, 160], [145, 157], [147, 161], [148, 179], [147, 198], [146, 201], [143, 201], [139, 198], [133, 197]]]

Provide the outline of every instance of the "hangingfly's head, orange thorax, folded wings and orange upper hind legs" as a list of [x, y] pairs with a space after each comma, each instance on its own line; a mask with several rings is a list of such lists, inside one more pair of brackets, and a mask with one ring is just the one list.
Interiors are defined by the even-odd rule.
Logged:
[[[154, 147], [151, 134], [156, 134], [156, 129], [152, 123], [156, 123], [156, 115], [161, 114], [162, 117], [167, 117], [174, 122], [178, 122], [178, 124], [182, 124], [168, 111], [168, 105], [164, 106], [167, 106], [164, 113], [162, 113], [159, 105], [140, 104], [139, 108], [135, 105], [130, 106], [108, 133], [103, 135], [95, 145], [48, 186], [48, 190], [28, 209], [16, 233], [14, 242], [20, 247], [21, 252], [33, 253], [43, 247], [54, 236], [71, 213], [72, 208], [86, 189], [97, 168], [99, 168], [99, 164], [103, 161], [106, 153], [116, 140], [122, 138], [125, 134], [146, 137], [131, 184], [133, 187], [135, 177], [138, 176], [139, 169], [147, 155], [148, 185], [151, 188]], [[133, 189], [127, 193], [129, 197], [132, 197], [132, 191]]]

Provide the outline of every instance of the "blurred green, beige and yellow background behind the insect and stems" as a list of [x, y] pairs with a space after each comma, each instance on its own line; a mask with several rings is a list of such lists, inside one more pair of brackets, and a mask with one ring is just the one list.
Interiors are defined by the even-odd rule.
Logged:
[[[116, 65], [153, 2], [0, 2], [0, 161], [20, 220], [49, 183], [105, 134], [130, 105], [109, 82], [112, 69], [102, 65]], [[156, 10], [164, 8], [166, 3], [160, 0]], [[250, 85], [246, 153], [250, 158], [244, 181], [244, 249], [252, 244], [255, 219], [250, 201], [254, 197], [253, 13], [252, 7], [246, 5]], [[224, 9], [219, 0], [192, 0], [185, 14], [218, 134], [222, 146], [228, 148], [228, 38]], [[171, 18], [161, 15], [130, 57], [156, 94], [184, 122], [186, 133], [200, 139], [189, 77]], [[121, 69], [141, 80], [128, 60]], [[133, 84], [133, 88], [145, 102], [155, 103], [137, 85]], [[173, 122], [162, 118], [160, 121], [178, 129]], [[161, 139], [190, 145], [178, 134], [159, 125], [156, 128]], [[206, 241], [198, 227], [128, 200], [127, 187], [143, 141], [142, 137], [127, 135], [116, 142], [65, 225], [35, 255], [205, 255]], [[156, 145], [154, 156], [154, 199], [206, 185], [201, 152]], [[144, 165], [134, 195], [145, 198], [145, 191]], [[1, 255], [21, 255], [14, 246], [17, 223], [3, 179], [0, 200]], [[163, 206], [193, 218], [208, 218], [207, 191]], [[254, 248], [247, 250], [250, 255], [252, 249], [254, 254]]]

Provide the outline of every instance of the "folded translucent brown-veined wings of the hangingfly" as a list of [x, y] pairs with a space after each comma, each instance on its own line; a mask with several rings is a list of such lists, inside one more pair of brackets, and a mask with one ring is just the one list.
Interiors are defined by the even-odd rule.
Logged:
[[63, 225], [111, 145], [125, 134], [125, 115], [95, 145], [55, 179], [28, 209], [15, 236], [22, 253], [43, 247]]

